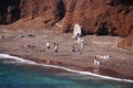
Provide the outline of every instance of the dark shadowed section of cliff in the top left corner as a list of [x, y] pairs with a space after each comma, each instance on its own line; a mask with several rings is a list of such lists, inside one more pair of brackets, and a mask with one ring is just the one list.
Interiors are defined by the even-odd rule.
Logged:
[[0, 24], [10, 24], [20, 15], [20, 0], [0, 0]]

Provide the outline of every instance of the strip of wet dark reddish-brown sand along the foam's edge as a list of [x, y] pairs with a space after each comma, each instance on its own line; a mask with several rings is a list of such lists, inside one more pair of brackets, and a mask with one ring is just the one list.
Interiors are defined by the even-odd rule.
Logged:
[[[75, 65], [69, 65], [65, 63], [61, 63], [61, 62], [54, 62], [54, 61], [41, 61], [39, 58], [27, 58], [29, 61], [33, 61], [38, 64], [44, 64], [44, 65], [53, 65], [53, 66], [59, 66], [59, 67], [66, 67], [69, 69], [72, 70], [76, 70], [76, 72], [84, 72], [84, 73], [92, 73], [95, 74], [98, 76], [105, 76], [105, 77], [111, 77], [113, 78], [119, 78], [119, 79], [127, 79], [127, 80], [133, 80], [133, 78], [124, 76], [120, 73], [116, 73], [115, 70], [111, 70], [111, 69], [103, 69], [103, 68], [99, 68], [99, 69], [94, 69], [94, 67], [81, 67], [81, 66], [75, 66]], [[133, 81], [132, 81], [133, 82]]]

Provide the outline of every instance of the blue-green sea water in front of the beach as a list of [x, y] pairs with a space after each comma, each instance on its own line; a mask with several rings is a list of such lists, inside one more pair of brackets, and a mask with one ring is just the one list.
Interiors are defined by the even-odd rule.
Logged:
[[[8, 56], [11, 58], [10, 56]], [[133, 88], [132, 82], [104, 79], [30, 62], [0, 57], [0, 88]]]

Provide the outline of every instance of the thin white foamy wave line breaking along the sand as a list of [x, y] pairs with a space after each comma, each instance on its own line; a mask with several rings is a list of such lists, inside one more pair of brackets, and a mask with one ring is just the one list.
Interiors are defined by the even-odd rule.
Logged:
[[[9, 54], [0, 54], [0, 61], [1, 59], [9, 61], [9, 63], [30, 64], [30, 65], [38, 65], [38, 66], [44, 66], [44, 67], [60, 68], [60, 69], [66, 70], [66, 72], [71, 72], [71, 73], [78, 73], [78, 74], [82, 74], [82, 75], [90, 75], [90, 76], [100, 77], [100, 78], [110, 79], [110, 80], [133, 82], [133, 80], [131, 80], [131, 79], [114, 78], [114, 77], [110, 77], [110, 76], [98, 75], [98, 74], [90, 73], [90, 72], [74, 70], [74, 69], [70, 69], [70, 68], [61, 67], [61, 66], [55, 66], [55, 65], [38, 64], [35, 62], [32, 62], [32, 61], [23, 59], [23, 58], [17, 57], [17, 56], [11, 56]], [[10, 59], [13, 59], [13, 61], [10, 62]]]

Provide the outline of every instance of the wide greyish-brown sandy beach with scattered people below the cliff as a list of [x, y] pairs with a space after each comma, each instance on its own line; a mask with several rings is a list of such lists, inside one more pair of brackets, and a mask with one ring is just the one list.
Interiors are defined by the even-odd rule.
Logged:
[[[0, 38], [1, 54], [19, 56], [39, 64], [133, 79], [133, 53], [116, 47], [117, 36], [82, 36], [84, 48], [79, 52], [80, 45], [72, 38], [71, 33], [58, 33], [49, 29], [17, 31], [1, 29], [0, 35], [3, 35], [3, 38]], [[50, 50], [45, 46], [48, 41]], [[59, 45], [58, 53], [54, 52], [54, 43]], [[71, 51], [72, 46], [75, 46], [76, 52]], [[96, 55], [110, 55], [111, 58], [101, 58], [100, 69], [94, 69], [93, 58]]]

